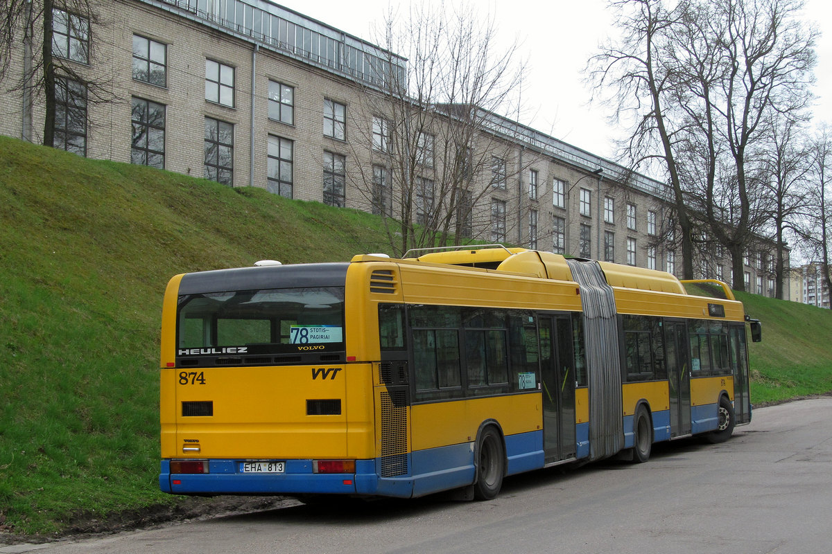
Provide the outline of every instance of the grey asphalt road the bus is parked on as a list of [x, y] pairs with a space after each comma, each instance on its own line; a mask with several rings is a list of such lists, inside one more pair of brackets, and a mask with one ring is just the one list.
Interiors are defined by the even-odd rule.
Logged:
[[754, 412], [725, 444], [654, 445], [506, 479], [492, 502], [292, 505], [0, 553], [832, 552], [832, 399]]

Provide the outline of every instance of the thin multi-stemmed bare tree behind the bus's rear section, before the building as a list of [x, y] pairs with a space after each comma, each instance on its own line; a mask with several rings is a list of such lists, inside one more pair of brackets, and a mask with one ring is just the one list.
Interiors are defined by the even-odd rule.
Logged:
[[[475, 206], [493, 179], [521, 170], [516, 147], [500, 138], [498, 115], [513, 110], [522, 83], [517, 44], [498, 45], [493, 19], [483, 20], [474, 7], [434, 10], [412, 6], [403, 21], [387, 17], [379, 42], [391, 52], [392, 71], [383, 86], [366, 90], [369, 125], [359, 131], [373, 169], [356, 168], [351, 176], [386, 216], [399, 254], [489, 238], [488, 210]], [[392, 52], [408, 59], [406, 76], [394, 74]]]

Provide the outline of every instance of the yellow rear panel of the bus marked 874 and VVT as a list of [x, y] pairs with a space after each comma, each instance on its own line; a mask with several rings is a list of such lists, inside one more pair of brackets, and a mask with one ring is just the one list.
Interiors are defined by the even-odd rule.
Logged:
[[[206, 383], [163, 370], [165, 458], [372, 458], [370, 365], [200, 368]], [[338, 370], [335, 372], [335, 370]], [[256, 385], [254, 385], [256, 384]], [[173, 400], [171, 402], [171, 400]], [[211, 416], [183, 416], [181, 403], [213, 402]], [[309, 415], [307, 400], [340, 400], [339, 415]], [[175, 410], [171, 414], [169, 410]], [[198, 454], [183, 451], [198, 445]]]

